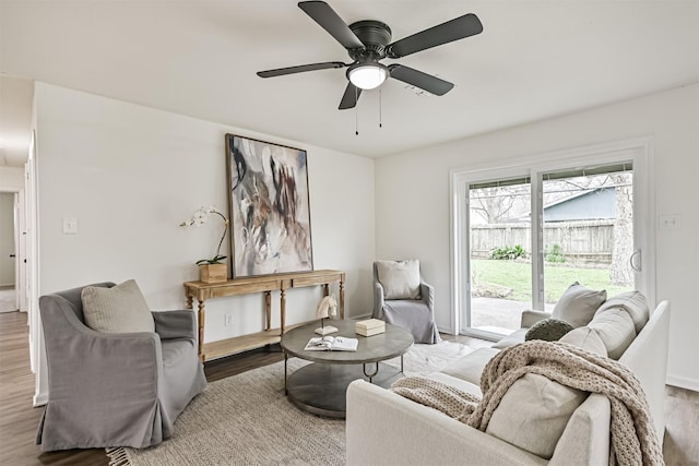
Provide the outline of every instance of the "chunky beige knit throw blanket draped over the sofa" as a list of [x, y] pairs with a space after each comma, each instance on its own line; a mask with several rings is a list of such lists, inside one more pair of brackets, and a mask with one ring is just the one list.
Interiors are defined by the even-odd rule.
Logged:
[[624, 365], [559, 342], [531, 340], [506, 348], [483, 370], [483, 399], [428, 378], [404, 378], [392, 390], [485, 432], [493, 413], [520, 377], [536, 373], [609, 398], [609, 464], [664, 465], [640, 383]]

